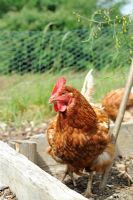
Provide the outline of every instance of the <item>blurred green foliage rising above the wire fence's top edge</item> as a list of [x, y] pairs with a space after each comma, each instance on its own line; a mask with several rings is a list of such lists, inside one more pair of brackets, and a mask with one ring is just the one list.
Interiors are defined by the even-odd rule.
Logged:
[[78, 23], [74, 11], [91, 16], [96, 0], [1, 0], [0, 30], [44, 30], [74, 29], [83, 26]]

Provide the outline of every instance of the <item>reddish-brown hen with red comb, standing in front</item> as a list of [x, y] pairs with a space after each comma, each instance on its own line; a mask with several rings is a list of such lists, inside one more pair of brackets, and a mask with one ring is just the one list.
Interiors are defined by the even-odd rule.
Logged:
[[[67, 164], [71, 173], [104, 173], [114, 158], [108, 117], [103, 109], [92, 107], [78, 90], [65, 83], [64, 78], [57, 81], [49, 100], [58, 114], [47, 130], [48, 153], [57, 162]], [[91, 194], [91, 182], [86, 197]]]

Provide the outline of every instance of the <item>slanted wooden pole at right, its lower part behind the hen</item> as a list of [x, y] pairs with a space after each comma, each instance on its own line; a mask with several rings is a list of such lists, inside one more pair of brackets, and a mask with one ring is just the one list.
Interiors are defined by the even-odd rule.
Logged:
[[[124, 113], [125, 113], [125, 110], [126, 110], [126, 105], [127, 105], [128, 97], [129, 97], [130, 92], [131, 92], [132, 85], [133, 85], [133, 60], [132, 60], [132, 63], [131, 63], [129, 74], [128, 74], [128, 79], [127, 79], [127, 83], [126, 83], [126, 86], [125, 86], [124, 95], [123, 95], [123, 98], [122, 98], [122, 101], [121, 101], [121, 104], [120, 104], [119, 112], [118, 112], [116, 122], [115, 122], [115, 125], [114, 125], [114, 129], [113, 129], [113, 144], [116, 144], [116, 141], [117, 141], [117, 138], [118, 138], [118, 135], [119, 135], [119, 130], [120, 130], [121, 123], [122, 123], [122, 120], [123, 120], [123, 117], [124, 117]], [[108, 178], [108, 174], [109, 174], [110, 169], [111, 169], [111, 166], [110, 166], [110, 168], [108, 168], [105, 171], [105, 174], [103, 176], [103, 181], [100, 185], [100, 188], [102, 188], [102, 189], [106, 186], [106, 182], [107, 182], [107, 178]]]

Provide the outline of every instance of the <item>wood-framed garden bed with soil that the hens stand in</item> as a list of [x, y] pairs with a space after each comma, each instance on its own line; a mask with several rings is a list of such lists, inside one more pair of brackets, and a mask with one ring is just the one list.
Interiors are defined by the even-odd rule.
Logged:
[[[111, 125], [111, 132], [112, 129], [113, 125]], [[93, 181], [93, 193], [95, 195], [91, 199], [133, 199], [133, 185], [128, 181], [127, 176], [124, 176], [124, 173], [127, 172], [133, 178], [133, 158], [131, 157], [133, 155], [132, 129], [133, 122], [122, 124], [117, 141], [117, 159], [111, 169], [107, 186], [104, 191], [99, 190], [100, 176], [95, 175]], [[0, 180], [3, 181], [3, 184], [10, 186], [18, 200], [85, 199], [78, 193], [84, 192], [88, 177], [76, 177], [77, 185], [75, 187], [69, 177], [65, 180], [65, 184], [68, 187], [57, 180], [61, 180], [66, 166], [56, 163], [47, 154], [46, 148], [48, 144], [45, 131], [46, 129], [44, 129], [43, 134], [35, 134], [27, 140], [25, 140], [26, 138], [20, 140], [21, 138], [19, 139], [19, 137], [13, 141], [8, 139], [10, 146], [17, 152], [7, 144], [0, 143]], [[23, 149], [26, 150], [23, 151]], [[27, 156], [35, 164], [20, 153]], [[6, 172], [7, 166], [8, 170]], [[72, 190], [69, 190], [69, 188]]]

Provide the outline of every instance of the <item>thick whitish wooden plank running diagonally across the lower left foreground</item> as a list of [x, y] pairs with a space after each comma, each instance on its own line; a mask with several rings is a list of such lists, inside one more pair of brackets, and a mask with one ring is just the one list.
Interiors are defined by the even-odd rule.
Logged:
[[11, 188], [19, 200], [86, 199], [1, 141], [0, 180]]

